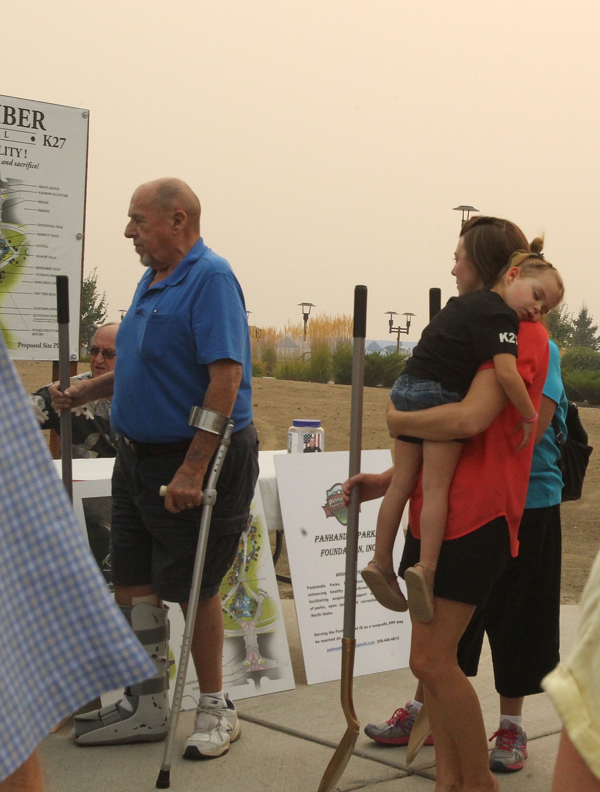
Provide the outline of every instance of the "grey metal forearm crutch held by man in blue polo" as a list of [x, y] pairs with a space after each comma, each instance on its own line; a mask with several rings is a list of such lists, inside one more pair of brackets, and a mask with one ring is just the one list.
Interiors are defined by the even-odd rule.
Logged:
[[[165, 790], [171, 786], [171, 756], [173, 754], [173, 741], [177, 732], [177, 722], [181, 709], [181, 701], [184, 697], [185, 675], [188, 671], [188, 661], [190, 647], [194, 634], [194, 624], [196, 622], [196, 611], [198, 609], [198, 596], [200, 584], [202, 583], [202, 572], [204, 568], [204, 556], [207, 551], [208, 529], [211, 527], [212, 508], [217, 500], [218, 474], [221, 472], [223, 459], [230, 444], [230, 437], [234, 431], [234, 422], [226, 415], [216, 413], [215, 410], [203, 407], [192, 407], [188, 424], [205, 432], [218, 435], [221, 440], [218, 444], [215, 457], [208, 475], [207, 485], [202, 492], [202, 516], [200, 518], [200, 531], [198, 535], [198, 546], [196, 549], [196, 561], [194, 562], [194, 573], [192, 575], [192, 587], [188, 600], [188, 613], [185, 617], [184, 640], [181, 644], [179, 656], [179, 668], [177, 668], [177, 680], [175, 691], [173, 692], [173, 706], [169, 717], [169, 727], [167, 729], [167, 739], [165, 742], [165, 753], [162, 757], [161, 771], [158, 773], [156, 782], [157, 789]], [[166, 486], [161, 487], [161, 495], [166, 494]]]

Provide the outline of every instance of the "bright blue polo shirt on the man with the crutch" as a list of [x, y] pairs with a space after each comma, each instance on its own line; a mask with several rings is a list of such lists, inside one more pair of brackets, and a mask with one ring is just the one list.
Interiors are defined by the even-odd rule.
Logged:
[[142, 276], [116, 336], [111, 424], [140, 443], [194, 436], [193, 406], [207, 392], [208, 365], [241, 363], [234, 432], [252, 421], [252, 360], [244, 295], [230, 265], [202, 238], [177, 268], [150, 287]]

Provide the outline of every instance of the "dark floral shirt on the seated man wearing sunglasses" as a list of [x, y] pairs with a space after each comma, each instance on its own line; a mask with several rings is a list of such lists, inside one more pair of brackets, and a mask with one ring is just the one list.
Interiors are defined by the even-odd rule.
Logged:
[[[71, 377], [71, 382], [89, 379], [91, 371]], [[46, 385], [30, 394], [36, 418], [43, 429], [54, 429], [60, 434], [60, 416], [52, 407], [50, 391]], [[110, 425], [109, 398], [88, 402], [71, 410], [71, 434], [74, 459], [95, 459], [116, 456], [116, 435]]]

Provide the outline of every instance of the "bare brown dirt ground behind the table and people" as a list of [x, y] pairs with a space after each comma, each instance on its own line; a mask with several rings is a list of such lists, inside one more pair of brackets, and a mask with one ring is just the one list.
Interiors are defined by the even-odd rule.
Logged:
[[[85, 365], [80, 371], [85, 371]], [[51, 364], [17, 361], [17, 370], [28, 391], [51, 381]], [[384, 421], [385, 389], [365, 388], [363, 395], [363, 448], [391, 448]], [[279, 379], [254, 379], [254, 422], [264, 450], [284, 448], [287, 428], [294, 418], [320, 418], [325, 429], [327, 451], [344, 451], [350, 430], [350, 386], [294, 383]], [[580, 406], [580, 417], [589, 441], [597, 451], [591, 455], [583, 497], [561, 508], [563, 522], [562, 601], [574, 603], [587, 580], [600, 547], [600, 409]], [[282, 554], [278, 572], [289, 575], [287, 558]], [[290, 587], [281, 586], [283, 596]]]

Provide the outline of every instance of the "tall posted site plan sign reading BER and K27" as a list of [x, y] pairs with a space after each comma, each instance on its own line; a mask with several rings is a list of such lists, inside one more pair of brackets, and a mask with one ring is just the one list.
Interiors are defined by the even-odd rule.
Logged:
[[89, 112], [0, 96], [0, 329], [11, 357], [58, 360], [56, 276], [78, 360]]

